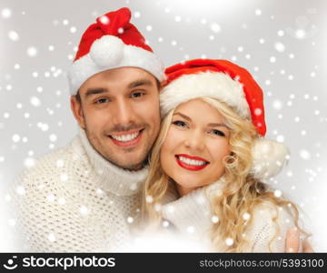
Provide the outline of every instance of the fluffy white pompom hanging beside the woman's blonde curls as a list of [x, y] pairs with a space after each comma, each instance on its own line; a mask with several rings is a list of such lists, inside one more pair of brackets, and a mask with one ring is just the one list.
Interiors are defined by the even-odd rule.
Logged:
[[287, 164], [290, 152], [282, 143], [260, 137], [253, 145], [251, 172], [258, 179], [267, 179], [280, 173]]

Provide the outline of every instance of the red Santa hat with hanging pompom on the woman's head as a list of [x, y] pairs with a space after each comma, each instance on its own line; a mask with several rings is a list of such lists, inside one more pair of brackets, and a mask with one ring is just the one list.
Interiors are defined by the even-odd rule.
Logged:
[[226, 60], [194, 59], [165, 70], [166, 82], [160, 95], [162, 116], [190, 99], [211, 96], [252, 120], [258, 138], [253, 145], [253, 175], [264, 179], [277, 175], [288, 159], [288, 149], [265, 139], [263, 90], [241, 66]]

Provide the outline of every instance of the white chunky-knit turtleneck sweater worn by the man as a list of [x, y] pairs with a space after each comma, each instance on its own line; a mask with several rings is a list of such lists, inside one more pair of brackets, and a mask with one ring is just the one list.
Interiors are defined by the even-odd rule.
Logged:
[[101, 252], [122, 248], [148, 172], [127, 171], [101, 157], [84, 130], [37, 160], [15, 182], [17, 227], [28, 251]]

